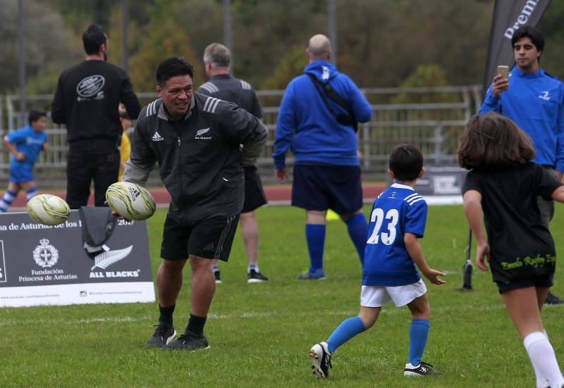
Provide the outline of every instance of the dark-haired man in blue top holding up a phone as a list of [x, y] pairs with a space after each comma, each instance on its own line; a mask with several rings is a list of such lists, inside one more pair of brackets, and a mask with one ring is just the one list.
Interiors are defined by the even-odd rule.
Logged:
[[[500, 75], [488, 90], [479, 114], [496, 111], [515, 121], [531, 137], [537, 156], [532, 161], [553, 170], [559, 179], [564, 173], [564, 85], [540, 67], [544, 37], [525, 25], [511, 38], [515, 67], [508, 79]], [[554, 215], [554, 202], [538, 197], [544, 226]], [[546, 303], [564, 303], [548, 294]]]

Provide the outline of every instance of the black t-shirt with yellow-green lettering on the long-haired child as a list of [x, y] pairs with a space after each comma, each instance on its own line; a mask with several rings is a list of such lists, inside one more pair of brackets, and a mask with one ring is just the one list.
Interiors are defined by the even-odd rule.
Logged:
[[532, 162], [503, 170], [472, 170], [466, 175], [462, 193], [482, 194], [494, 282], [554, 272], [554, 242], [542, 223], [537, 196], [551, 199], [560, 185], [556, 175]]

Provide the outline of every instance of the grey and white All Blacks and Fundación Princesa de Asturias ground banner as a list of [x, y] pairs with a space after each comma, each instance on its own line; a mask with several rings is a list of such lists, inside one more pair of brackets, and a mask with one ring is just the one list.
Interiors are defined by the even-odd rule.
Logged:
[[108, 251], [83, 249], [78, 211], [56, 226], [0, 214], [0, 307], [155, 300], [145, 221], [118, 221]]

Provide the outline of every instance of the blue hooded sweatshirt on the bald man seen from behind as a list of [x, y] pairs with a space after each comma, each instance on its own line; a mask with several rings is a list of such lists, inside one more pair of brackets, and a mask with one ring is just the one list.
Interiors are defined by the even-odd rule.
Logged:
[[274, 141], [276, 169], [286, 165], [288, 149], [293, 152], [296, 164], [359, 165], [357, 135], [353, 127], [338, 123], [326, 104], [341, 113], [346, 113], [344, 108], [330, 99], [324, 101], [321, 90], [309, 75], [314, 75], [323, 84], [331, 82], [331, 87], [350, 106], [355, 120], [362, 123], [370, 120], [372, 107], [355, 83], [331, 63], [309, 63], [304, 73], [290, 81], [282, 97]]

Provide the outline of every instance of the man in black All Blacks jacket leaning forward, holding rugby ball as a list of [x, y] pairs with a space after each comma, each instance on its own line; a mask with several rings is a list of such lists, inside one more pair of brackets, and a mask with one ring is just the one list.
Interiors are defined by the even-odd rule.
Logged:
[[[216, 288], [211, 259], [228, 260], [243, 208], [242, 163], [259, 155], [268, 132], [235, 104], [193, 92], [192, 77], [192, 65], [183, 58], [159, 65], [161, 98], [142, 109], [123, 173], [124, 181], [145, 184], [158, 162], [172, 197], [157, 273], [159, 325], [147, 342], [166, 349], [209, 347], [204, 324]], [[192, 269], [190, 320], [172, 342], [173, 311], [187, 258]]]

